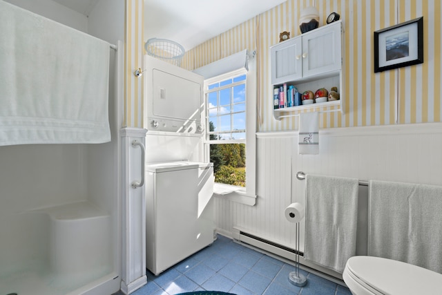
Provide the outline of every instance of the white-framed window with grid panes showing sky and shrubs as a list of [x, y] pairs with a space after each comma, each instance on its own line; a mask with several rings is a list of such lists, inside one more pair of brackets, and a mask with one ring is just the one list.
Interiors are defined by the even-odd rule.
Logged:
[[204, 80], [206, 160], [213, 162], [215, 194], [256, 201], [256, 71], [241, 68]]

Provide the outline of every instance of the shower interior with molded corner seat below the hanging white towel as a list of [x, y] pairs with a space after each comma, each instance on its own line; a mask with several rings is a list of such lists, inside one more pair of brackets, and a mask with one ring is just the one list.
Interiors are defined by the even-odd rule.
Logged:
[[116, 187], [94, 167], [113, 171], [112, 145], [0, 147], [4, 294], [81, 294], [118, 276]]

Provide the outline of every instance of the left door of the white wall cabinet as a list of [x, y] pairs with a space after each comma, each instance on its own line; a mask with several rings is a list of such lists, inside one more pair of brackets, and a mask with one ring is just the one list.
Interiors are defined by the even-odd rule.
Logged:
[[271, 48], [271, 84], [302, 77], [301, 38], [293, 38]]

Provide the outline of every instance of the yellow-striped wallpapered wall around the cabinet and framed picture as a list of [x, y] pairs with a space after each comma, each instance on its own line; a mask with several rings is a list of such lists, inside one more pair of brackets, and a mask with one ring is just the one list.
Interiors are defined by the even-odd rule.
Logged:
[[[338, 12], [345, 30], [345, 109], [320, 115], [321, 128], [441, 122], [440, 0], [288, 0], [189, 50], [183, 67], [204, 66], [245, 48], [258, 53], [258, 131], [298, 129], [297, 117], [273, 119], [270, 50], [279, 33], [300, 35], [302, 8], [315, 6], [320, 26]], [[374, 73], [373, 32], [423, 16], [424, 64]]]

